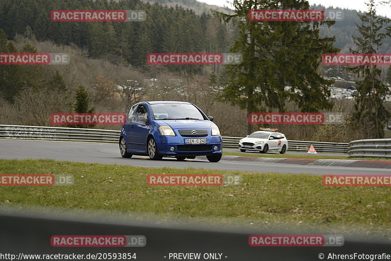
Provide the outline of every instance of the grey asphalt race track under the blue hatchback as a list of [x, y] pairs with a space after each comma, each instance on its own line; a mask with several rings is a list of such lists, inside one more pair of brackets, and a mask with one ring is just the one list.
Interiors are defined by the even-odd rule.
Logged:
[[[170, 167], [197, 169], [246, 171], [255, 173], [285, 174], [390, 174], [387, 168], [361, 168], [339, 166], [311, 166], [300, 164], [280, 164], [256, 161], [232, 160], [233, 156], [223, 156], [220, 162], [211, 163], [206, 157], [194, 160], [177, 161], [175, 158], [163, 158], [153, 161], [148, 157], [133, 156], [122, 158], [118, 144], [93, 142], [63, 142], [41, 140], [0, 140], [1, 159], [54, 159], [63, 161], [118, 164], [138, 167]], [[289, 157], [289, 155], [287, 155]], [[225, 158], [225, 159], [224, 159]], [[246, 159], [245, 157], [239, 157]]]

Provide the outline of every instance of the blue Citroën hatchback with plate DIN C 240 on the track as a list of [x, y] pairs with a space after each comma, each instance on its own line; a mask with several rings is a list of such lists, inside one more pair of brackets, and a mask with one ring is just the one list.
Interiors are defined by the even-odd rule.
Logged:
[[132, 106], [122, 127], [119, 148], [122, 157], [148, 155], [159, 160], [177, 160], [205, 155], [218, 162], [222, 139], [212, 116], [189, 102], [153, 101]]

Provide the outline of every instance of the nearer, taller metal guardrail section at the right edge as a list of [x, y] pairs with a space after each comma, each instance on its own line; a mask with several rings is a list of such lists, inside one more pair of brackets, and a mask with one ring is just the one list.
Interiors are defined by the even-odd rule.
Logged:
[[348, 147], [349, 157], [391, 158], [391, 139], [353, 140]]

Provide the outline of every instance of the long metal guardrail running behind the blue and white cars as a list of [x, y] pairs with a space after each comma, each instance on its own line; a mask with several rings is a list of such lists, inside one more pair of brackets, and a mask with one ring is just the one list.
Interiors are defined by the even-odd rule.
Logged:
[[[121, 131], [0, 125], [2, 139], [34, 139], [61, 141], [96, 141], [117, 143]], [[241, 137], [222, 137], [223, 147], [238, 148]], [[288, 151], [305, 152], [313, 145], [317, 152], [347, 153], [348, 143], [288, 140]]]

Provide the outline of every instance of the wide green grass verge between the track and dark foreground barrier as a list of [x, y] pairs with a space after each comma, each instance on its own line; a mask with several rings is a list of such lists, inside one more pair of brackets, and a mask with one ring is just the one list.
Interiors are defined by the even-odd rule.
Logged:
[[[148, 174], [241, 174], [239, 186], [148, 186]], [[0, 160], [0, 174], [73, 174], [72, 186], [0, 186], [0, 208], [55, 207], [158, 215], [219, 227], [391, 233], [390, 187], [324, 187], [309, 174], [141, 168], [54, 160]]]

